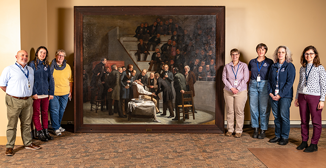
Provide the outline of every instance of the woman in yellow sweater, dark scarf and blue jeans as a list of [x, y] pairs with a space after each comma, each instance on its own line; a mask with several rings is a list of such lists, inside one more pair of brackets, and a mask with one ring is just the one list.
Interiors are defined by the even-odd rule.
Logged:
[[72, 97], [74, 82], [71, 68], [66, 64], [65, 57], [66, 52], [64, 50], [57, 50], [50, 67], [54, 80], [54, 97], [49, 101], [49, 109], [53, 132], [58, 136], [65, 131], [61, 127], [61, 120], [68, 98], [71, 99]]

